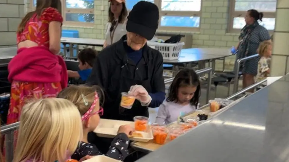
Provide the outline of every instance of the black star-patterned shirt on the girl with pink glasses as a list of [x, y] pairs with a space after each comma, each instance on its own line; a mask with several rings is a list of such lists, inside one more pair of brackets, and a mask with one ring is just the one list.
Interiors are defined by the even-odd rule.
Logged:
[[127, 150], [128, 146], [129, 146], [129, 138], [125, 133], [119, 133], [118, 135], [115, 136], [106, 154], [101, 153], [94, 144], [79, 141], [79, 145], [74, 154], [71, 156], [71, 158], [79, 161], [86, 155], [90, 156], [105, 155], [110, 158], [123, 161], [129, 154]]

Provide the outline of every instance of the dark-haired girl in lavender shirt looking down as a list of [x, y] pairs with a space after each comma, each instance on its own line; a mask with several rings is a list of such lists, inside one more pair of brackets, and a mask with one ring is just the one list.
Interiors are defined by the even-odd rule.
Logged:
[[169, 124], [177, 121], [180, 114], [195, 111], [201, 95], [199, 77], [193, 69], [185, 68], [176, 75], [168, 98], [160, 105], [156, 122]]

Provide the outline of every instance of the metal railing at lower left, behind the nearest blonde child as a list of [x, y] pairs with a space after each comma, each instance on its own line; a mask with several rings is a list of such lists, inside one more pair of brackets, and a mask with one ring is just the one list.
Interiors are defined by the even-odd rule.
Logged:
[[6, 162], [12, 162], [14, 154], [14, 131], [18, 130], [20, 121], [1, 127], [1, 135], [5, 135]]

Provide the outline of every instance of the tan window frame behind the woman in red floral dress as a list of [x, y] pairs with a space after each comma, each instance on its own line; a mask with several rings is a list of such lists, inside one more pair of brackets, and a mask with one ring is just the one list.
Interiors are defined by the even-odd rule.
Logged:
[[[33, 0], [29, 0], [29, 1], [30, 1], [29, 9], [31, 11], [35, 10], [35, 7], [33, 6]], [[66, 13], [81, 13], [81, 14], [83, 13], [83, 14], [94, 15], [94, 8], [92, 9], [66, 8], [66, 0], [60, 0], [60, 2], [61, 2], [61, 10], [62, 10], [61, 15], [63, 17], [63, 26], [94, 27], [94, 22], [90, 23], [90, 22], [66, 21]]]

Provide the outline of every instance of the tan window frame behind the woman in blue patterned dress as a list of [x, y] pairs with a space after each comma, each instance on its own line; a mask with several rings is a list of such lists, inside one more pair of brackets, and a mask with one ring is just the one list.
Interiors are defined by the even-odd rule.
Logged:
[[[241, 29], [234, 29], [233, 24], [234, 24], [234, 18], [237, 17], [244, 17], [246, 16], [246, 11], [235, 11], [235, 3], [236, 0], [230, 0], [230, 5], [229, 5], [229, 23], [228, 23], [228, 30], [227, 32], [229, 33], [240, 33]], [[263, 11], [261, 11], [263, 12]], [[263, 12], [264, 17], [263, 18], [275, 18], [276, 21], [276, 11], [275, 12]], [[268, 30], [270, 34], [274, 32], [274, 30]]]

